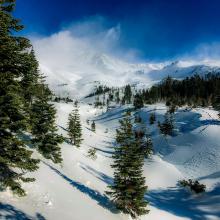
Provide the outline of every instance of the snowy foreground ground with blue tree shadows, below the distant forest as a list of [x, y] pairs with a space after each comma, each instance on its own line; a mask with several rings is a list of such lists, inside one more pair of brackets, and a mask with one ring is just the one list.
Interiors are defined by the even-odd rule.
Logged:
[[[67, 137], [68, 114], [73, 105], [56, 103], [59, 132]], [[63, 219], [63, 220], [126, 220], [129, 216], [115, 210], [105, 195], [113, 179], [111, 154], [118, 119], [130, 106], [116, 107], [108, 112], [80, 102], [83, 144], [76, 148], [62, 144], [62, 165], [41, 159], [34, 183], [24, 184], [27, 196], [18, 198], [10, 191], [0, 193], [0, 219]], [[157, 120], [163, 120], [163, 104], [149, 105], [139, 111], [149, 128], [154, 155], [145, 161], [144, 176], [148, 185], [146, 199], [150, 213], [141, 220], [155, 219], [219, 219], [220, 218], [220, 136], [217, 112], [212, 109], [179, 109], [175, 126], [178, 135], [162, 137], [155, 125], [148, 123], [156, 109]], [[96, 132], [86, 120], [95, 120]], [[108, 128], [108, 133], [105, 133]], [[87, 156], [91, 147], [97, 159]], [[207, 185], [204, 195], [192, 195], [177, 186], [183, 178], [198, 178]]]

